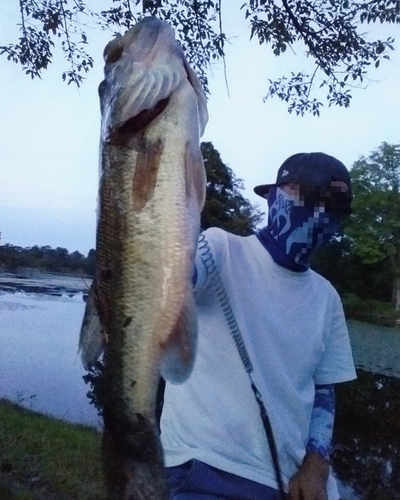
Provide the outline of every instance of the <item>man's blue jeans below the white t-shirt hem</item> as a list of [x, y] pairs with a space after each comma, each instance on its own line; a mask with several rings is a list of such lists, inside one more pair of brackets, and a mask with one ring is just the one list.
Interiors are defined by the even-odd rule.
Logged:
[[167, 475], [170, 500], [284, 500], [273, 488], [198, 460], [167, 467]]

